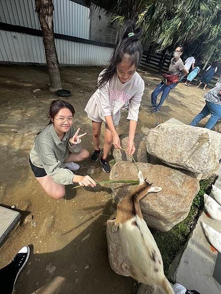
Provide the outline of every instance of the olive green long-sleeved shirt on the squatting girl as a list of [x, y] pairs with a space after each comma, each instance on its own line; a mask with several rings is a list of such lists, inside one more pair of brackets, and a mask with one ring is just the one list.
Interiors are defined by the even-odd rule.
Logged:
[[36, 137], [34, 146], [30, 151], [32, 164], [45, 169], [45, 172], [54, 179], [55, 183], [73, 184], [72, 179], [75, 174], [68, 169], [62, 169], [61, 164], [68, 158], [69, 152], [79, 153], [81, 151], [81, 144], [71, 146], [69, 142], [75, 132], [74, 127], [71, 126], [60, 141], [55, 132], [54, 124], [49, 124]]

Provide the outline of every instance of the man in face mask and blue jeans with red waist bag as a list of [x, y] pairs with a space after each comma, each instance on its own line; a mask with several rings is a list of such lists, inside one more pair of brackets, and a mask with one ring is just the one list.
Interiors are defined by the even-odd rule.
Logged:
[[[171, 89], [173, 89], [177, 82], [179, 81], [180, 72], [183, 71], [183, 74], [186, 75], [189, 71], [185, 68], [182, 59], [180, 56], [183, 53], [183, 48], [177, 47], [173, 53], [173, 58], [171, 59], [171, 63], [169, 66], [169, 74], [166, 74], [167, 78], [157, 86], [157, 88], [151, 94], [151, 105], [150, 109], [152, 113], [156, 113], [161, 108], [162, 104], [166, 100], [169, 95]], [[162, 92], [160, 102], [157, 103], [157, 97]]]

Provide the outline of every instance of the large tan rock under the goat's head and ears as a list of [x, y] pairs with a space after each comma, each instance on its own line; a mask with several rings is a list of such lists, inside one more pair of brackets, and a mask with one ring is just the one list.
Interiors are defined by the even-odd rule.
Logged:
[[[140, 201], [143, 218], [148, 226], [169, 231], [187, 217], [193, 198], [199, 191], [199, 182], [192, 172], [168, 166], [138, 163], [138, 168], [148, 182], [163, 188], [161, 192], [150, 193]], [[120, 161], [111, 169], [110, 180], [137, 180], [137, 174], [133, 163]], [[135, 189], [121, 183], [112, 183], [110, 187], [116, 203]]]

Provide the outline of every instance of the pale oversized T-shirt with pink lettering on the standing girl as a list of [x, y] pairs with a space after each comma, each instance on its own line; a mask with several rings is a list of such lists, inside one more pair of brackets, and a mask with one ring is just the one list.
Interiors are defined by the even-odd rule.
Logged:
[[129, 101], [127, 119], [138, 121], [139, 106], [143, 91], [144, 81], [137, 72], [124, 84], [119, 81], [118, 75], [115, 73], [105, 86], [98, 88], [91, 96], [85, 107], [85, 111], [90, 118], [93, 119], [94, 117], [95, 122], [98, 121], [97, 116], [105, 121], [105, 117], [110, 115], [113, 121], [119, 122], [120, 110]]

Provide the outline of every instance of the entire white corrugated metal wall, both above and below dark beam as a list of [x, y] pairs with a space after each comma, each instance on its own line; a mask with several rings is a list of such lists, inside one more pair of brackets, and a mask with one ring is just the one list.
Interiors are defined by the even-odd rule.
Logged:
[[[90, 10], [70, 0], [54, 0], [55, 33], [89, 39]], [[34, 0], [0, 0], [0, 22], [40, 29]], [[112, 48], [55, 39], [61, 65], [104, 65]], [[45, 64], [42, 37], [0, 30], [0, 61]]]

